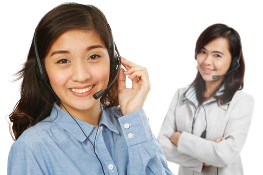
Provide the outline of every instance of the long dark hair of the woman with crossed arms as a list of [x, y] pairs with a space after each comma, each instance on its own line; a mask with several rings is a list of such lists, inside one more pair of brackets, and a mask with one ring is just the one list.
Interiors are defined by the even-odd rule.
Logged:
[[[237, 33], [236, 30], [233, 28], [221, 24], [216, 23], [213, 25], [208, 26], [198, 37], [195, 45], [195, 59], [199, 51], [209, 42], [212, 40], [223, 37], [228, 41], [229, 45], [229, 52], [231, 54], [231, 66], [227, 71], [230, 71], [231, 68], [233, 68], [233, 58], [239, 57], [239, 64], [240, 66], [232, 73], [226, 74], [221, 82], [221, 84], [218, 86], [218, 88], [212, 93], [212, 96], [215, 97], [217, 102], [220, 102], [220, 104], [224, 104], [229, 102], [234, 93], [237, 90], [240, 90], [243, 88], [244, 85], [244, 70], [245, 70], [245, 64], [244, 64], [244, 58], [242, 53], [242, 47], [241, 47], [241, 40], [240, 36]], [[221, 85], [224, 84], [224, 90], [221, 95], [216, 96], [215, 92], [219, 90]], [[204, 101], [204, 90], [205, 90], [205, 81], [202, 78], [200, 72], [198, 71], [196, 74], [196, 77], [194, 81], [191, 83], [195, 87], [197, 100], [199, 103], [202, 103]]]

